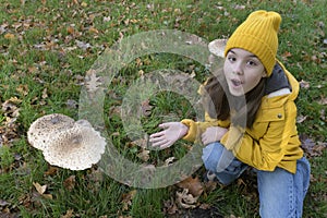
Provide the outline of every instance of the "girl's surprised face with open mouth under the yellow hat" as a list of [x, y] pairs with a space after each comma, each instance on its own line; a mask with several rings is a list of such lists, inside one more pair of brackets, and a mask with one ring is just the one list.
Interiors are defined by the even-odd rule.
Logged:
[[230, 93], [233, 96], [242, 96], [252, 90], [266, 77], [266, 71], [259, 59], [241, 48], [232, 48], [228, 51], [223, 73]]

